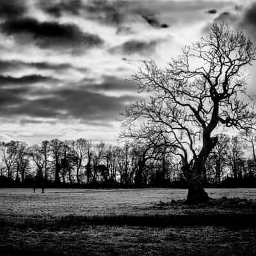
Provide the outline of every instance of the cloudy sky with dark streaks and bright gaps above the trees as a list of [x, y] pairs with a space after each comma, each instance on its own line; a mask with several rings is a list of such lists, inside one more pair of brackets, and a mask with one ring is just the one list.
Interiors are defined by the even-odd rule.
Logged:
[[0, 141], [116, 143], [141, 61], [164, 67], [223, 21], [256, 42], [256, 1], [0, 0]]

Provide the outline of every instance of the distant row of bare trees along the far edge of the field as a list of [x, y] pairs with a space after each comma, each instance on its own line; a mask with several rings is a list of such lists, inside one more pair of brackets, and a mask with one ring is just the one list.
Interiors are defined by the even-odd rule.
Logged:
[[[244, 140], [246, 138], [246, 140]], [[205, 163], [208, 186], [253, 186], [256, 181], [255, 138], [218, 134]], [[1, 186], [186, 187], [179, 157], [168, 147], [90, 140], [51, 140], [28, 145], [0, 143]]]

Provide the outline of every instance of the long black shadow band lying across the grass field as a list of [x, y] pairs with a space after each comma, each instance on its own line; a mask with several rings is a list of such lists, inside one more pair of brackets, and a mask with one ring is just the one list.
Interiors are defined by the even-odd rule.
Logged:
[[154, 214], [154, 215], [111, 215], [76, 216], [68, 215], [54, 220], [27, 218], [19, 221], [0, 219], [2, 227], [33, 228], [34, 230], [60, 230], [81, 225], [128, 225], [128, 226], [250, 226], [256, 227], [256, 213], [250, 214]]

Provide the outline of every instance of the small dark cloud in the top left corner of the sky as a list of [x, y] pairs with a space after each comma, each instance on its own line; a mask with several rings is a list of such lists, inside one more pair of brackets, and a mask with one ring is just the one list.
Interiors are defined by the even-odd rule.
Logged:
[[26, 12], [24, 0], [1, 0], [0, 1], [0, 17], [7, 19], [17, 18]]

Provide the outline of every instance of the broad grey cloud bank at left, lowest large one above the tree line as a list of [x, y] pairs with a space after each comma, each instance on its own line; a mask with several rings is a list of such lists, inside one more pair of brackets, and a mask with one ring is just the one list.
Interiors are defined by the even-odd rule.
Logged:
[[[115, 80], [110, 77], [106, 77], [105, 80], [108, 79], [109, 83]], [[12, 82], [17, 84], [15, 79], [12, 79]], [[49, 90], [30, 86], [4, 86], [0, 90], [0, 116], [29, 116], [29, 119], [78, 118], [83, 122], [108, 122], [118, 117], [125, 104], [136, 99], [129, 95], [107, 96], [92, 92], [86, 86], [66, 86]]]

